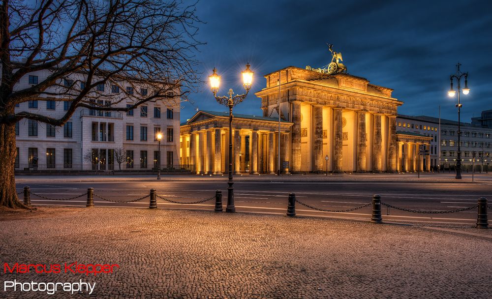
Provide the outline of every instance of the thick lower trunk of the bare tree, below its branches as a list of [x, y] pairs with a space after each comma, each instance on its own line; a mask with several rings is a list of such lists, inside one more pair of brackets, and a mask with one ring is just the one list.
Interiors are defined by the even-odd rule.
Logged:
[[0, 123], [0, 207], [25, 208], [15, 190], [15, 123]]

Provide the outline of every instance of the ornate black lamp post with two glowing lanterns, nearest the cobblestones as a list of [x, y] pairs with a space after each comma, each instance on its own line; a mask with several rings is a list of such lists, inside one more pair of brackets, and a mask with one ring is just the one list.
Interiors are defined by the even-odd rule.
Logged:
[[229, 90], [229, 97], [217, 96], [217, 91], [220, 86], [220, 76], [217, 74], [217, 69], [215, 69], [215, 67], [212, 75], [209, 76], [210, 89], [212, 90], [212, 93], [214, 93], [215, 100], [217, 103], [229, 107], [229, 180], [227, 181], [229, 187], [227, 188], [227, 208], [225, 209], [228, 213], [236, 212], [236, 207], [234, 205], [234, 188], [232, 187], [234, 184], [234, 181], [232, 180], [232, 107], [241, 103], [246, 98], [249, 89], [251, 89], [254, 72], [250, 70], [249, 67], [249, 63], [246, 63], [246, 69], [242, 71], [243, 87], [245, 88], [246, 93], [236, 94], [235, 96], [232, 96], [234, 94], [232, 89]]

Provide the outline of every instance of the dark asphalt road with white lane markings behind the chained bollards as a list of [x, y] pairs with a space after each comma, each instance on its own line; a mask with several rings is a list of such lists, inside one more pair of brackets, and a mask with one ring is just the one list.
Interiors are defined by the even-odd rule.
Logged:
[[[18, 191], [25, 183], [17, 184]], [[30, 183], [31, 192], [51, 198], [69, 198], [85, 193], [88, 187], [94, 194], [118, 201], [130, 201], [149, 193], [174, 201], [192, 202], [223, 192], [224, 210], [227, 204], [225, 181], [101, 181], [101, 182], [52, 182]], [[370, 181], [238, 181], [234, 184], [236, 211], [285, 214], [289, 192], [308, 205], [320, 209], [343, 210], [358, 207], [371, 201], [373, 194], [380, 194], [382, 202], [407, 209], [454, 210], [471, 207], [479, 197], [492, 198], [491, 184], [450, 182], [370, 182]], [[22, 196], [22, 195], [20, 195]], [[33, 205], [85, 206], [86, 197], [70, 201], [50, 201], [31, 195]], [[148, 208], [149, 198], [134, 203], [112, 203], [94, 197], [96, 207]], [[197, 205], [178, 205], [157, 199], [158, 208], [214, 209], [214, 201]], [[371, 207], [350, 212], [322, 212], [296, 205], [298, 215], [322, 217], [352, 217], [370, 219]], [[383, 220], [408, 222], [443, 222], [472, 224], [477, 209], [456, 213], [422, 214], [382, 207]]]

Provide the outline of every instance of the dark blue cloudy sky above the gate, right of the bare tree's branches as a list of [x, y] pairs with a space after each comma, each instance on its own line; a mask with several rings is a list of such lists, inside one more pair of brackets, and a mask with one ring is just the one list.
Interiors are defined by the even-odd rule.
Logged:
[[[202, 0], [197, 15], [202, 79], [214, 67], [222, 76], [219, 95], [243, 93], [240, 72], [250, 62], [253, 87], [235, 113], [261, 115], [254, 92], [263, 75], [286, 66], [322, 67], [331, 61], [327, 42], [343, 55], [348, 73], [394, 89], [400, 114], [457, 120], [455, 98], [447, 96], [456, 64], [469, 72], [461, 96], [461, 120], [492, 109], [492, 1], [227, 1]], [[208, 84], [208, 83], [207, 83]], [[456, 87], [456, 84], [455, 84]], [[181, 121], [195, 109], [226, 111], [209, 86], [183, 103]]]

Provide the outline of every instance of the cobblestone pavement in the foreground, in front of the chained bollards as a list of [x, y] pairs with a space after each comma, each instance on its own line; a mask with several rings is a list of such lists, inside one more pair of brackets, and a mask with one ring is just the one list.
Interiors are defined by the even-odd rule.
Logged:
[[96, 276], [2, 271], [4, 281], [96, 283], [73, 298], [492, 297], [491, 239], [415, 226], [123, 208], [0, 217], [2, 264], [120, 265]]

